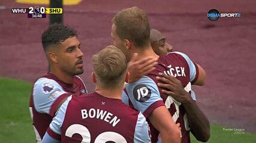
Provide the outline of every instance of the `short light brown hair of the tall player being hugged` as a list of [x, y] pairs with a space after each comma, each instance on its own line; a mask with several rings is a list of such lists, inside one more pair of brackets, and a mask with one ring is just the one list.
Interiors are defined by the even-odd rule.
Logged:
[[121, 39], [128, 39], [134, 46], [144, 48], [149, 45], [150, 26], [147, 14], [137, 7], [119, 11], [112, 19], [116, 34]]

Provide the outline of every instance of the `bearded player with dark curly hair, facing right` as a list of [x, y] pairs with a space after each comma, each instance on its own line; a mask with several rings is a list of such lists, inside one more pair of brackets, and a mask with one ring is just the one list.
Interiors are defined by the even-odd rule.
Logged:
[[50, 71], [35, 81], [29, 104], [37, 142], [41, 142], [52, 117], [67, 97], [87, 93], [82, 79], [77, 76], [83, 73], [83, 52], [77, 31], [53, 24], [41, 39]]

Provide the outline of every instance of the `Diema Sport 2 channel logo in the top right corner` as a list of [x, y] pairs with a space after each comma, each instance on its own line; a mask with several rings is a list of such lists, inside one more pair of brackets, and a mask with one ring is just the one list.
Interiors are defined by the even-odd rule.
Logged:
[[241, 17], [240, 13], [219, 13], [218, 10], [212, 9], [207, 13], [207, 17], [210, 21], [217, 21], [219, 17]]

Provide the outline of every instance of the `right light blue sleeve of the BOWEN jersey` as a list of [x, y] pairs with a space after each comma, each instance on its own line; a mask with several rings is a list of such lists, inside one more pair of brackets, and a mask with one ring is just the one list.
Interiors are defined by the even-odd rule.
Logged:
[[151, 142], [150, 136], [149, 125], [146, 122], [146, 118], [140, 112], [135, 126], [134, 142]]

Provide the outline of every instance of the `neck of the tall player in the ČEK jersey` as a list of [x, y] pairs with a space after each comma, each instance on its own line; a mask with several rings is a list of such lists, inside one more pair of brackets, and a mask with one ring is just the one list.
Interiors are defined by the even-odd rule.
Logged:
[[159, 55], [155, 54], [155, 52], [153, 51], [151, 46], [149, 46], [147, 48], [143, 48], [143, 49], [135, 48], [134, 52], [138, 53], [139, 59], [142, 59], [145, 57], [153, 57], [157, 60], [159, 58]]

